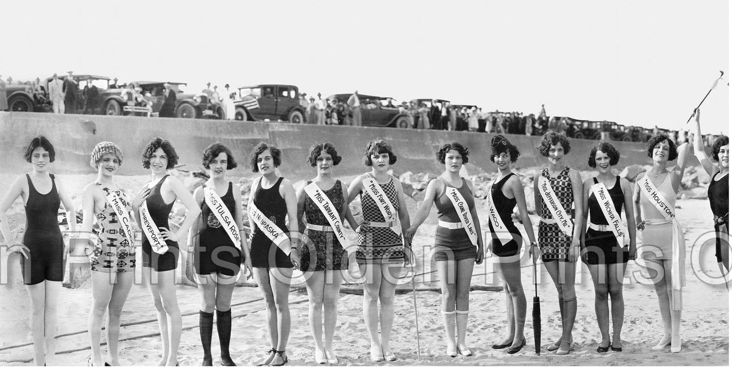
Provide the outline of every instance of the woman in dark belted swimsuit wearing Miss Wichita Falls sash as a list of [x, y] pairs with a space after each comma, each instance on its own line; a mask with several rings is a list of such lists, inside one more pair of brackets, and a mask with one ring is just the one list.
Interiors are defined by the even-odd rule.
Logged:
[[[635, 220], [635, 215], [630, 182], [613, 174], [619, 160], [620, 153], [615, 146], [607, 142], [598, 143], [591, 149], [587, 161], [590, 168], [597, 168], [598, 174], [583, 183], [582, 219], [586, 224], [582, 228], [587, 227], [587, 230], [581, 239], [582, 260], [587, 264], [594, 283], [595, 314], [602, 335], [597, 352], [608, 352], [608, 349], [623, 351], [620, 340], [625, 311], [623, 279], [628, 260], [635, 260], [636, 254], [635, 227], [627, 228], [621, 220], [623, 207], [625, 219]], [[612, 340], [608, 295], [613, 317]]]

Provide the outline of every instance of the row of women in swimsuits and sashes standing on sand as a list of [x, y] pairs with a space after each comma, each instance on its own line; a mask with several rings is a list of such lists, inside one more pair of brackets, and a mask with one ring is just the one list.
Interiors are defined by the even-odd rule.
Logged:
[[[722, 181], [722, 177], [726, 178], [728, 171], [727, 142], [719, 142], [720, 145], [716, 143], [714, 145], [713, 155], [714, 160], [720, 163], [722, 175], [719, 178], [714, 176], [715, 182]], [[677, 153], [673, 142], [667, 137], [660, 135], [651, 138], [648, 154], [654, 160], [654, 170], [638, 176], [633, 201], [630, 183], [611, 174], [610, 169], [618, 163], [620, 157], [612, 145], [600, 143], [591, 150], [589, 165], [598, 168], [599, 174], [583, 183], [578, 171], [562, 164], [564, 154], [569, 152], [567, 138], [559, 133], [545, 134], [537, 149], [548, 158], [549, 165], [534, 179], [534, 200], [539, 204], [541, 217], [539, 250], [536, 250], [537, 242], [529, 213], [526, 211], [523, 185], [510, 169], [510, 163], [518, 159], [518, 149], [501, 135], [493, 138], [491, 141], [493, 156], [490, 160], [498, 167], [498, 179], [492, 184], [488, 196], [489, 228], [492, 234], [488, 247], [500, 261], [497, 263], [498, 272], [504, 280], [509, 322], [506, 336], [495, 343], [493, 348], [506, 348], [509, 354], [515, 354], [526, 345], [523, 335], [526, 298], [521, 286], [518, 260], [523, 241], [512, 221], [513, 209], [518, 206], [526, 234], [531, 241], [529, 252], [534, 261], [539, 255], [542, 257], [543, 264], [559, 293], [562, 334], [556, 343], [548, 347], [548, 350], [556, 351], [556, 354], [569, 354], [572, 351], [572, 325], [577, 307], [573, 277], [575, 261], [581, 254], [583, 261], [589, 266], [596, 290], [596, 312], [602, 334], [602, 341], [597, 351], [605, 352], [608, 348], [621, 351], [622, 309], [616, 308], [616, 302], [622, 305], [625, 266], [638, 252], [635, 247], [635, 228], [611, 226], [616, 224], [613, 222], [613, 217], [619, 219], [621, 209], [624, 207], [626, 218], [635, 218], [637, 228], [643, 230], [644, 247], [651, 248], [651, 252], [643, 253], [643, 258], [662, 266], [661, 269], [654, 270], [664, 271], [658, 273], [662, 275], [654, 278], [654, 282], [660, 308], [670, 313], [662, 312], [665, 335], [654, 348], [662, 349], [671, 345], [672, 351], [680, 350], [679, 284], [683, 286], [683, 280], [679, 281], [678, 278], [674, 280], [672, 275], [678, 272], [673, 263], [681, 264], [683, 270], [683, 238], [681, 245], [679, 239], [674, 242], [674, 233], [665, 228], [668, 228], [667, 225], [676, 227], [675, 218], [668, 218], [659, 209], [654, 208], [650, 200], [652, 197], [643, 195], [640, 185], [657, 188], [656, 192], [661, 193], [662, 199], [668, 200], [666, 205], [673, 209], [676, 198], [673, 194], [678, 188], [680, 174], [683, 173], [686, 162], [686, 146], [682, 145]], [[44, 151], [53, 154], [53, 147], [45, 138], [37, 138], [31, 142], [29, 152], [35, 159], [29, 161], [34, 163], [34, 174], [36, 166], [43, 168], [42, 159], [35, 154], [40, 152], [42, 157]], [[717, 154], [720, 159], [717, 159]], [[202, 163], [209, 170], [209, 180], [190, 196], [175, 177], [165, 174], [165, 169], [172, 168], [177, 162], [173, 147], [168, 141], [155, 138], [143, 154], [143, 165], [151, 168], [154, 179], [151, 184], [143, 187], [131, 202], [127, 201], [124, 192], [111, 181], [111, 176], [122, 164], [122, 152], [109, 142], [95, 146], [91, 165], [97, 168], [99, 175], [97, 181], [89, 184], [84, 190], [82, 225], [83, 231], [90, 231], [91, 216], [87, 214], [94, 214], [101, 228], [91, 257], [94, 271], [92, 273], [94, 309], [90, 317], [93, 364], [101, 365], [105, 362], [99, 354], [99, 335], [101, 317], [108, 307], [109, 349], [105, 363], [118, 365], [116, 340], [119, 338], [119, 313], [129, 292], [129, 286], [125, 286], [124, 281], [127, 277], [131, 277], [131, 273], [124, 272], [135, 267], [135, 248], [130, 247], [133, 241], [127, 238], [129, 228], [128, 223], [124, 221], [125, 214], [130, 213], [135, 213], [134, 218], [138, 220], [138, 225], [141, 225], [143, 231], [148, 229], [143, 237], [143, 266], [148, 266], [150, 270], [144, 275], [146, 278], [153, 275], [158, 278], [158, 283], [149, 285], [158, 308], [158, 318], [163, 332], [161, 336], [164, 352], [160, 364], [177, 363], [180, 313], [175, 300], [172, 275], [167, 277], [166, 272], [175, 269], [177, 265], [179, 250], [176, 241], [187, 228], [190, 228], [189, 245], [193, 245], [190, 249], [193, 257], [188, 258], [190, 268], [187, 270], [187, 275], [192, 275], [195, 269], [195, 279], [198, 280], [201, 291], [199, 316], [204, 352], [203, 365], [212, 365], [210, 345], [213, 310], [216, 310], [217, 331], [220, 338], [220, 363], [234, 365], [228, 353], [228, 343], [231, 337], [231, 293], [236, 275], [239, 274], [240, 264], [244, 264], [247, 278], [248, 275], [254, 275], [266, 299], [272, 348], [261, 365], [283, 365], [287, 362], [285, 347], [290, 326], [287, 301], [293, 267], [305, 274], [310, 299], [310, 327], [315, 341], [313, 354], [315, 362], [337, 363], [332, 340], [337, 318], [338, 291], [343, 280], [341, 271], [348, 269], [349, 254], [348, 250], [343, 248], [343, 245], [347, 245], [343, 236], [344, 220], [347, 220], [359, 234], [355, 256], [359, 269], [365, 276], [364, 317], [371, 340], [370, 359], [375, 362], [395, 360], [397, 357], [389, 348], [389, 334], [394, 318], [395, 287], [401, 267], [411, 261], [409, 247], [411, 238], [429, 215], [432, 204], [438, 208], [434, 258], [443, 292], [441, 310], [444, 317], [447, 354], [452, 357], [458, 354], [471, 356], [471, 350], [465, 342], [468, 292], [473, 265], [482, 262], [484, 252], [482, 237], [479, 236], [480, 222], [475, 210], [472, 184], [460, 177], [460, 169], [468, 162], [468, 149], [460, 143], [449, 143], [438, 150], [436, 157], [444, 164], [445, 171], [438, 179], [428, 184], [425, 199], [431, 201], [422, 203], [411, 226], [400, 182], [387, 174], [390, 165], [396, 162], [396, 155], [388, 142], [377, 139], [368, 143], [364, 162], [372, 170], [357, 177], [348, 189], [340, 181], [332, 178], [333, 167], [340, 163], [340, 157], [332, 144], [321, 143], [310, 148], [308, 160], [316, 168], [316, 176], [302, 184], [297, 191], [291, 182], [275, 174], [275, 168], [281, 163], [280, 155], [279, 149], [266, 143], [260, 143], [251, 155], [252, 170], [261, 173], [262, 176], [253, 182], [247, 206], [250, 227], [254, 230], [251, 247], [248, 247], [244, 234], [236, 236], [237, 231], [243, 229], [240, 213], [242, 206], [240, 196], [235, 196], [234, 193], [241, 193], [241, 190], [238, 185], [225, 180], [226, 170], [236, 168], [234, 155], [225, 146], [214, 143], [206, 148]], [[676, 159], [677, 155], [679, 163], [673, 171], [666, 171], [665, 165], [668, 160]], [[40, 164], [36, 164], [36, 161]], [[655, 169], [657, 167], [659, 169]], [[662, 179], [661, 176], [665, 177]], [[49, 176], [49, 179], [53, 184], [51, 190], [53, 193], [56, 190], [53, 175]], [[16, 182], [24, 183], [20, 179]], [[26, 190], [26, 193], [29, 193], [27, 203], [37, 204], [35, 198], [42, 195], [34, 189], [30, 176], [27, 177], [27, 184], [29, 185], [29, 190]], [[725, 192], [716, 186], [715, 184], [717, 188], [715, 191]], [[360, 225], [356, 224], [347, 206], [356, 195], [361, 197], [364, 217]], [[726, 192], [724, 195], [726, 199]], [[56, 196], [64, 198], [62, 194]], [[173, 233], [168, 230], [167, 219], [176, 197], [182, 199], [189, 212], [179, 231]], [[15, 201], [15, 198], [17, 196], [12, 198], [12, 201]], [[602, 201], [597, 201], [597, 198], [601, 198]], [[387, 201], [383, 201], [384, 199]], [[606, 206], [608, 200], [612, 206]], [[3, 205], [6, 202], [7, 199]], [[460, 203], [466, 206], [459, 206]], [[57, 206], [58, 202], [55, 204]], [[641, 206], [642, 216], [637, 209], [634, 212], [632, 204], [636, 207], [638, 204]], [[7, 211], [7, 207], [9, 206], [3, 210]], [[196, 210], [201, 207], [203, 216], [200, 221], [195, 222], [198, 218]], [[70, 209], [69, 206], [65, 208]], [[36, 211], [36, 216], [49, 212], [46, 206], [31, 209]], [[132, 209], [139, 210], [132, 212]], [[575, 214], [575, 209], [581, 209], [582, 212]], [[4, 211], [1, 212], [2, 215]], [[55, 210], [53, 212], [55, 214]], [[148, 212], [149, 217], [146, 217]], [[296, 218], [297, 224], [289, 223], [288, 229], [285, 225], [285, 216], [290, 219]], [[128, 217], [128, 220], [129, 218], [132, 217]], [[716, 213], [715, 219], [717, 219]], [[584, 231], [585, 227], [573, 227], [571, 220], [580, 224], [588, 220], [588, 228]], [[160, 232], [156, 234], [151, 230], [152, 227], [146, 227], [149, 223], [160, 227]], [[33, 224], [31, 217], [28, 224], [31, 228]], [[7, 228], [7, 221], [0, 223], [0, 226], [3, 225]], [[300, 236], [295, 227], [297, 230], [302, 229], [305, 236]], [[4, 228], [3, 234], [8, 236]], [[406, 242], [403, 242], [402, 235]], [[23, 251], [31, 253], [26, 265], [30, 265], [31, 269], [42, 268], [42, 272], [31, 273], [31, 277], [26, 278], [26, 283], [35, 284], [34, 281], [37, 283], [39, 278], [60, 281], [62, 272], [59, 275], [58, 272], [53, 272], [53, 268], [42, 264], [45, 261], [37, 261], [32, 257], [42, 253], [40, 251], [34, 253], [37, 243], [32, 239], [23, 241], [23, 245], [28, 245], [29, 249]], [[62, 242], [55, 244], [48, 242], [41, 247], [44, 247], [43, 253], [45, 253], [45, 249], [62, 249], [63, 245]], [[673, 247], [681, 247], [681, 250], [674, 251]], [[62, 264], [56, 263], [56, 265], [62, 268]], [[106, 288], [102, 286], [104, 283], [97, 283], [102, 280], [99, 277], [101, 273], [105, 272], [107, 272], [105, 283], [108, 286]], [[116, 279], [116, 283], [108, 283], [111, 276]], [[119, 291], [116, 288], [119, 288]], [[613, 300], [613, 322], [620, 322], [613, 324], [612, 338], [609, 335], [608, 294]], [[379, 303], [381, 313], [378, 313]], [[321, 315], [323, 313], [324, 315]], [[168, 329], [167, 324], [171, 324], [171, 329]], [[324, 327], [324, 332], [321, 327]], [[166, 332], [172, 334], [168, 336]], [[36, 335], [34, 341], [38, 343], [40, 338], [35, 338]], [[44, 359], [42, 354], [40, 359]], [[45, 359], [48, 359], [48, 356]]]

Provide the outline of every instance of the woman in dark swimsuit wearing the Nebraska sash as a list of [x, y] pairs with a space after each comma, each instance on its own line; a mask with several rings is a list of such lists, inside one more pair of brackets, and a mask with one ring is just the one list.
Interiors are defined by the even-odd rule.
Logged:
[[[277, 175], [282, 153], [276, 146], [261, 142], [251, 154], [250, 165], [261, 176], [252, 183], [247, 209], [252, 235], [254, 279], [264, 295], [269, 341], [272, 348], [259, 365], [281, 366], [288, 362], [287, 341], [290, 337], [288, 305], [292, 269], [299, 254], [291, 239], [297, 228], [297, 198], [292, 182]], [[288, 217], [288, 226], [285, 226]]]

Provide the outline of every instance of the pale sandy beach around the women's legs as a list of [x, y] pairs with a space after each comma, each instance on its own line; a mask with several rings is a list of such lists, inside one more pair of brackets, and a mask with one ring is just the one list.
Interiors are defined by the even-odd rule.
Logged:
[[[67, 176], [72, 193], [79, 193], [81, 187], [93, 179], [93, 176]], [[11, 178], [12, 179], [12, 178]], [[0, 179], [0, 184], [7, 188], [11, 179]], [[119, 176], [117, 181], [123, 187], [137, 188], [145, 179], [139, 176]], [[706, 200], [680, 200], [677, 202], [679, 217], [684, 225], [687, 239], [687, 253], [694, 247], [690, 245], [704, 231], [712, 229], [712, 216], [709, 202]], [[408, 200], [410, 214], [414, 215], [416, 203]], [[22, 209], [22, 206], [21, 208]], [[485, 206], [479, 206], [479, 217], [485, 220]], [[536, 227], [537, 217], [532, 215]], [[414, 245], [430, 245], [435, 230], [436, 216], [430, 215], [415, 237]], [[522, 229], [523, 231], [523, 229]], [[349, 231], [351, 236], [353, 233]], [[712, 241], [713, 242], [713, 241]], [[707, 244], [701, 253], [701, 269], [709, 275], [718, 276], [720, 272], [714, 263], [713, 243]], [[420, 250], [420, 247], [417, 247]], [[418, 251], [421, 253], [421, 251]], [[138, 253], [139, 255], [139, 253]], [[4, 259], [7, 258], [4, 257]], [[4, 261], [3, 259], [3, 261]], [[422, 263], [422, 260], [425, 260]], [[419, 258], [417, 273], [429, 268], [428, 258]], [[687, 261], [691, 255], [687, 256]], [[490, 259], [488, 259], [490, 261]], [[524, 258], [523, 265], [530, 265]], [[3, 264], [5, 265], [5, 264]], [[424, 265], [424, 266], [423, 266]], [[488, 269], [487, 269], [488, 268]], [[541, 269], [540, 269], [541, 270]], [[631, 261], [627, 276], [638, 275], [641, 266]], [[490, 271], [484, 263], [476, 267], [474, 274]], [[422, 361], [417, 360], [417, 340], [414, 321], [412, 294], [397, 295], [395, 299], [395, 324], [392, 333], [392, 348], [399, 358], [396, 362], [372, 363], [368, 361], [369, 340], [365, 332], [362, 317], [362, 297], [354, 294], [342, 294], [339, 305], [335, 351], [340, 357], [340, 365], [728, 365], [729, 364], [729, 321], [728, 291], [722, 286], [711, 286], [703, 283], [687, 262], [687, 287], [684, 290], [684, 316], [682, 321], [683, 351], [670, 354], [668, 348], [661, 352], [651, 351], [662, 335], [662, 324], [658, 313], [657, 299], [652, 286], [628, 283], [625, 287], [625, 321], [623, 328], [623, 349], [621, 353], [608, 352], [597, 354], [595, 348], [600, 340], [600, 332], [594, 315], [594, 291], [589, 272], [582, 266], [581, 281], [577, 286], [578, 314], [575, 323], [575, 351], [566, 357], [558, 357], [542, 348], [540, 356], [534, 355], [534, 336], [531, 324], [531, 297], [534, 287], [531, 286], [531, 267], [523, 268], [523, 285], [529, 304], [526, 324], [528, 344], [519, 354], [509, 355], [502, 350], [490, 348], [490, 344], [499, 340], [506, 326], [506, 313], [503, 292], [474, 291], [471, 293], [470, 322], [468, 325], [468, 345], [474, 351], [474, 357], [450, 358], [444, 354], [441, 326], [440, 296], [436, 292], [419, 292], [419, 333], [421, 337]], [[490, 285], [491, 277], [474, 277], [474, 284]], [[17, 276], [16, 276], [17, 277]], [[12, 276], [10, 278], [12, 280]], [[139, 280], [139, 279], [138, 279]], [[417, 279], [423, 282], [421, 277]], [[540, 275], [539, 297], [542, 300], [542, 346], [547, 346], [559, 337], [559, 307], [556, 290], [548, 275]], [[500, 283], [496, 277], [496, 282]], [[436, 286], [431, 283], [432, 286]], [[425, 286], [427, 283], [419, 283]], [[404, 288], [411, 287], [407, 283]], [[86, 329], [89, 313], [91, 291], [89, 288], [67, 289], [61, 291], [59, 309], [59, 334], [80, 332]], [[22, 286], [15, 284], [0, 286], [0, 316], [5, 327], [0, 329], [0, 346], [7, 347], [18, 343], [30, 342], [26, 316], [29, 303]], [[198, 294], [195, 288], [180, 286], [178, 291], [179, 305], [183, 318], [183, 334], [179, 350], [180, 364], [183, 366], [200, 365], [201, 343], [198, 335]], [[231, 354], [238, 365], [255, 365], [265, 357], [269, 348], [266, 328], [264, 327], [264, 304], [254, 301], [260, 298], [256, 288], [236, 288], [234, 291], [233, 314], [234, 326], [231, 338]], [[288, 354], [288, 365], [316, 365], [313, 362], [313, 343], [307, 324], [307, 294], [305, 291], [291, 293], [292, 331]], [[236, 305], [240, 304], [240, 305]], [[124, 307], [123, 324], [152, 320], [144, 324], [123, 327], [122, 339], [138, 336], [155, 335], [158, 328], [154, 308], [147, 289], [140, 283], [132, 288], [130, 298]], [[103, 340], [103, 338], [102, 338]], [[69, 335], [57, 340], [57, 351], [75, 351], [59, 354], [58, 365], [86, 365], [89, 357], [89, 341], [86, 332]], [[218, 352], [217, 335], [214, 332], [212, 351], [214, 360]], [[155, 365], [160, 358], [160, 338], [157, 336], [124, 340], [119, 345], [122, 365]], [[102, 348], [104, 350], [105, 348]], [[31, 346], [21, 348], [0, 348], [0, 365], [31, 365]], [[214, 362], [217, 364], [217, 362]]]

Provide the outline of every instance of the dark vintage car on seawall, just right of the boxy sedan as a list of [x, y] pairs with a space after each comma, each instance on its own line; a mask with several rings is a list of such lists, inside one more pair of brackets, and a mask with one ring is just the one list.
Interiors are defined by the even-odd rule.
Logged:
[[[352, 94], [332, 94], [327, 97], [327, 100], [337, 99], [340, 103], [345, 104]], [[359, 94], [359, 104], [362, 106], [361, 125], [364, 127], [410, 128], [409, 116], [400, 112], [397, 105], [387, 106], [389, 99], [392, 98]]]

